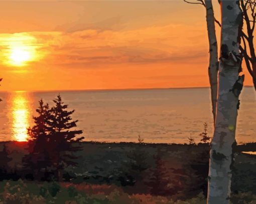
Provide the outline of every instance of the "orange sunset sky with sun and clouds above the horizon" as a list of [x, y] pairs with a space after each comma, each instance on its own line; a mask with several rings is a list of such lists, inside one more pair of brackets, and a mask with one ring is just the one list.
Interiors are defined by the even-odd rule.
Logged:
[[[0, 7], [1, 91], [209, 86], [201, 5], [35, 0]], [[220, 20], [217, 0], [214, 10]], [[252, 85], [247, 72], [245, 85]]]

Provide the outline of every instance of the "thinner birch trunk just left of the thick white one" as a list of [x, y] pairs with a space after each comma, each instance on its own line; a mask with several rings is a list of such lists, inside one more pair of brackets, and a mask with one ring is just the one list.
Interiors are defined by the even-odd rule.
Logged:
[[209, 40], [209, 81], [211, 88], [211, 103], [212, 103], [212, 114], [213, 121], [215, 121], [216, 115], [216, 102], [217, 102], [217, 87], [218, 87], [218, 47], [217, 39], [215, 34], [215, 18], [213, 13], [212, 1], [205, 0], [205, 9], [206, 9], [206, 22], [207, 22], [207, 31], [208, 31], [208, 40]]

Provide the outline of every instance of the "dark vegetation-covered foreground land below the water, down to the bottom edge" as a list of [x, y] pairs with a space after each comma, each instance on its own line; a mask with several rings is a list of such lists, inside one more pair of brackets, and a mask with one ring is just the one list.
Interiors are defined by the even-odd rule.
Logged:
[[[206, 202], [207, 143], [79, 142], [81, 150], [74, 153], [77, 166], [64, 166], [61, 181], [54, 168], [33, 171], [24, 165], [28, 145], [0, 143], [3, 203]], [[255, 144], [234, 148], [233, 203], [256, 200], [256, 155], [241, 153], [255, 149]]]

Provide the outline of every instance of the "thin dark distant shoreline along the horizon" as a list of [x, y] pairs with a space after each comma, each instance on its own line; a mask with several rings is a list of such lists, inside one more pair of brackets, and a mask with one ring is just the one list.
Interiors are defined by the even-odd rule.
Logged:
[[[244, 86], [246, 88], [253, 88], [253, 86]], [[34, 90], [34, 91], [0, 91], [0, 93], [12, 92], [103, 92], [103, 91], [150, 91], [150, 90], [168, 90], [168, 89], [209, 89], [210, 87], [173, 87], [173, 88], [127, 88], [127, 89], [67, 89], [67, 90]]]

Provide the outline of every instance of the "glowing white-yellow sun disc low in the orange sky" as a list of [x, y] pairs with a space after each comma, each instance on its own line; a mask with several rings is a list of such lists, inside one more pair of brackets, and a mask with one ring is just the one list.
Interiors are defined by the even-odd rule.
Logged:
[[24, 66], [33, 58], [33, 52], [26, 46], [14, 46], [10, 49], [9, 63], [14, 66]]

